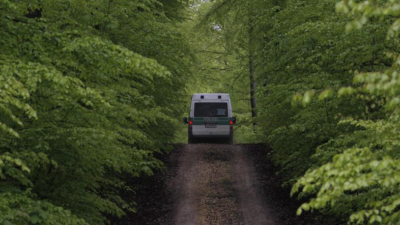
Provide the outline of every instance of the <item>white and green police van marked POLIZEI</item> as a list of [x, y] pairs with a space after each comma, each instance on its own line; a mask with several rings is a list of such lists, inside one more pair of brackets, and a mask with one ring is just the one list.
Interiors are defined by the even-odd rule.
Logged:
[[233, 144], [233, 126], [236, 117], [232, 115], [229, 94], [193, 94], [188, 124], [188, 143], [196, 143], [202, 138], [223, 138]]

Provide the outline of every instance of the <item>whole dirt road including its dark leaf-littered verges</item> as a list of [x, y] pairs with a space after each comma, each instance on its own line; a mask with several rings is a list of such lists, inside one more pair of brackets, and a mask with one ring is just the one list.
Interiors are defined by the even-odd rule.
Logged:
[[178, 145], [168, 170], [133, 180], [137, 213], [113, 224], [316, 224], [295, 216], [263, 145]]

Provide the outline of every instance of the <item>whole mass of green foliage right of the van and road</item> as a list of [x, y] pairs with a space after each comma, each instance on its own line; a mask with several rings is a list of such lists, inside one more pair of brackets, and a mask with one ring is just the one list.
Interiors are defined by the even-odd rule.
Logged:
[[261, 140], [292, 194], [311, 198], [298, 213], [396, 223], [398, 2], [214, 1], [209, 8], [202, 24], [228, 52], [255, 59]]

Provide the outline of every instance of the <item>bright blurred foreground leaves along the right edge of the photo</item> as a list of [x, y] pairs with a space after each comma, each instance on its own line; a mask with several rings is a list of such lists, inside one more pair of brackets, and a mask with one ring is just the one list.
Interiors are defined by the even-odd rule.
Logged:
[[311, 167], [293, 186], [292, 194], [316, 194], [298, 209], [298, 214], [324, 209], [350, 216], [349, 223], [357, 224], [395, 224], [400, 218], [397, 7], [395, 1], [377, 1], [374, 5], [342, 1], [336, 5], [339, 12], [356, 16], [346, 25], [348, 35], [368, 31], [370, 27], [376, 30], [378, 25], [385, 24], [388, 32], [381, 40], [386, 40], [386, 48], [376, 46], [375, 34], [372, 47], [380, 50], [381, 55], [389, 53], [383, 58], [385, 66], [357, 69], [353, 87], [338, 90], [338, 97], [359, 99], [364, 109], [354, 115], [338, 108], [337, 115], [350, 116], [338, 123], [347, 129], [317, 148], [312, 156], [317, 167]]

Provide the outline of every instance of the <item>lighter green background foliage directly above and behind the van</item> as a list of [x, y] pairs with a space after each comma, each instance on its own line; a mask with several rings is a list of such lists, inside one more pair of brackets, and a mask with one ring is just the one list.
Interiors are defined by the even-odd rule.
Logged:
[[248, 12], [249, 1], [196, 1], [191, 33], [195, 52], [195, 79], [188, 85], [192, 93], [228, 93], [238, 123], [236, 143], [257, 141], [250, 108]]

